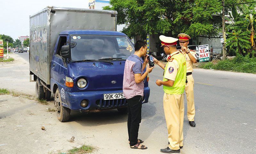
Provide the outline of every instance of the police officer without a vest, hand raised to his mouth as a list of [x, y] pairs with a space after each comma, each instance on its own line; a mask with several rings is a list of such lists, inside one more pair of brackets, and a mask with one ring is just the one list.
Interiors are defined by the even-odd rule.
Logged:
[[194, 102], [194, 79], [192, 76], [193, 63], [196, 63], [196, 51], [188, 49], [188, 43], [190, 36], [184, 33], [178, 35], [180, 41], [180, 53], [186, 58], [187, 64], [187, 81], [185, 86], [185, 92], [187, 96], [187, 116], [188, 123], [191, 127], [196, 127], [195, 123], [195, 102]]

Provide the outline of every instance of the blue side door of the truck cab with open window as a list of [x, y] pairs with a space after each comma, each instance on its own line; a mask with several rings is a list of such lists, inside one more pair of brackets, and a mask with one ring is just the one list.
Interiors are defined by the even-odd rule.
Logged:
[[[66, 45], [67, 44], [67, 35], [60, 35], [59, 39], [57, 40], [58, 42], [58, 45], [57, 45], [57, 48], [56, 48], [56, 51], [54, 52], [54, 55], [53, 55], [53, 58], [52, 58], [52, 78], [55, 80], [55, 81], [58, 81], [58, 82], [62, 82], [60, 81], [60, 70], [62, 70], [61, 68], [62, 67], [65, 67], [67, 69], [67, 65], [65, 63], [65, 60], [64, 58], [61, 56], [61, 47], [63, 45]], [[65, 83], [65, 81], [64, 81]]]

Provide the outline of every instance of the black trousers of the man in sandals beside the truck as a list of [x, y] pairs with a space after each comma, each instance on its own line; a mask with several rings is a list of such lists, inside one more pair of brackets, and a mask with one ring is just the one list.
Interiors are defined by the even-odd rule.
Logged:
[[137, 95], [130, 99], [126, 99], [128, 103], [128, 135], [130, 146], [138, 143], [138, 132], [141, 122], [141, 106], [142, 96]]

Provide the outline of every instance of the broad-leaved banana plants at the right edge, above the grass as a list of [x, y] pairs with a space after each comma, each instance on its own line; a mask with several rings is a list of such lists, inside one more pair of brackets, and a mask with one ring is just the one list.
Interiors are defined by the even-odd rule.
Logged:
[[[256, 4], [242, 4], [232, 8], [229, 17], [231, 21], [226, 27], [227, 46], [231, 54], [252, 54], [256, 56], [255, 28], [256, 28]], [[233, 52], [233, 53], [232, 53]], [[235, 52], [235, 53], [234, 53]]]

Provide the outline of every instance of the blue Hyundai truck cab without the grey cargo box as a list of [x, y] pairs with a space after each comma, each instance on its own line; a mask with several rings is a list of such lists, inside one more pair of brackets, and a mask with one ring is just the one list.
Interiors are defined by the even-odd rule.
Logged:
[[[51, 91], [58, 119], [67, 121], [70, 110], [125, 112], [124, 65], [133, 53], [133, 44], [124, 33], [62, 31], [51, 61]], [[143, 103], [148, 102], [149, 92], [146, 78]]]

